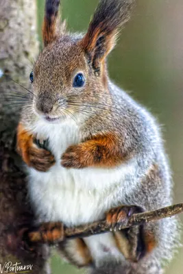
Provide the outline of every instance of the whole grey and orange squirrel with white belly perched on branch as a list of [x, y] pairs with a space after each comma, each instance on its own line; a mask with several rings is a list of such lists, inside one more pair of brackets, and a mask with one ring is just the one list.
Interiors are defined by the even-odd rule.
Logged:
[[100, 0], [86, 34], [66, 31], [59, 5], [45, 2], [44, 49], [17, 127], [38, 218], [27, 240], [62, 238], [62, 256], [93, 274], [162, 273], [178, 235], [175, 218], [64, 239], [64, 225], [106, 218], [117, 227], [134, 213], [168, 206], [172, 179], [156, 119], [108, 76], [106, 58], [134, 0]]

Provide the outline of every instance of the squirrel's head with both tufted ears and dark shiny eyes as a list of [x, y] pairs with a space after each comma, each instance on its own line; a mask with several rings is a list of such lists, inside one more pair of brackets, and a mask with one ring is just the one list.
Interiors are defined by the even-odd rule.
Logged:
[[[101, 0], [88, 32], [68, 34], [59, 28], [60, 0], [46, 0], [42, 37], [45, 48], [30, 74], [34, 110], [48, 121], [93, 113], [108, 95], [106, 57], [119, 28], [129, 19], [134, 0]], [[64, 26], [64, 27], [63, 27]]]

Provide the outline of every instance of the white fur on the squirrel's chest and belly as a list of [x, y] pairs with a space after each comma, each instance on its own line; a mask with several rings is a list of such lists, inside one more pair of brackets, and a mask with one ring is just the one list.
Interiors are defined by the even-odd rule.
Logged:
[[[125, 175], [134, 169], [133, 164], [115, 169], [64, 169], [60, 157], [69, 145], [80, 142], [79, 127], [71, 121], [63, 125], [41, 122], [34, 132], [49, 138], [49, 149], [56, 158], [56, 164], [46, 173], [29, 169], [29, 197], [40, 220], [80, 225], [103, 219], [114, 206], [115, 192]], [[110, 234], [108, 237], [110, 240]], [[90, 238], [87, 243], [93, 253], [100, 242], [106, 242], [106, 234], [96, 236], [96, 241]]]

